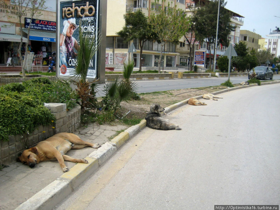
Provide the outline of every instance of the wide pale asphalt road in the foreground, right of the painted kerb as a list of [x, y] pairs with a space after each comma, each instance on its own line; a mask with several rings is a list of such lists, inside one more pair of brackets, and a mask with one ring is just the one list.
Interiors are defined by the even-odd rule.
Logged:
[[279, 205], [280, 84], [222, 93], [144, 128], [55, 209]]

